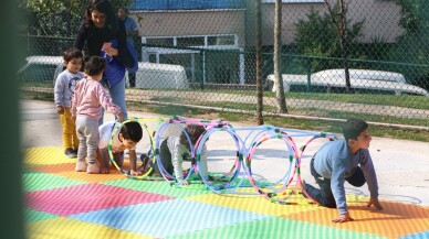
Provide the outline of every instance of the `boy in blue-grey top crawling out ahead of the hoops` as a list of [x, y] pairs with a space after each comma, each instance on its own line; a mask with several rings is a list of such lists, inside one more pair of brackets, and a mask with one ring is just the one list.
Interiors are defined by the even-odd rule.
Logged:
[[322, 145], [310, 162], [310, 172], [320, 188], [306, 183], [303, 187], [321, 206], [338, 209], [338, 217], [332, 219], [333, 222], [353, 220], [346, 202], [346, 181], [356, 187], [367, 183], [370, 193], [367, 207], [383, 209], [378, 200], [377, 175], [368, 150], [373, 139], [368, 128], [364, 120], [348, 119], [343, 124], [344, 139]]

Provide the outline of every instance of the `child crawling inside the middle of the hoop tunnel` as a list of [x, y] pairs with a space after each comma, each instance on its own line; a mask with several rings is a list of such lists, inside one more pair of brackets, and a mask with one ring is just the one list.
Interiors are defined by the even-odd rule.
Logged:
[[[164, 140], [159, 146], [159, 157], [161, 160], [163, 167], [169, 174], [175, 173], [175, 177], [178, 183], [181, 183], [182, 185], [189, 185], [189, 181], [184, 181], [184, 171], [181, 169], [181, 163], [184, 160], [189, 159], [190, 156], [189, 141], [186, 135], [188, 134], [192, 146], [195, 146], [200, 135], [206, 132], [206, 128], [198, 124], [187, 124], [185, 127], [185, 132], [182, 132], [179, 137], [168, 137], [166, 140]], [[201, 173], [207, 177], [208, 170], [206, 152], [207, 146], [205, 144], [200, 159], [202, 171]], [[151, 166], [154, 167], [155, 172], [160, 174], [160, 171], [156, 164]]]

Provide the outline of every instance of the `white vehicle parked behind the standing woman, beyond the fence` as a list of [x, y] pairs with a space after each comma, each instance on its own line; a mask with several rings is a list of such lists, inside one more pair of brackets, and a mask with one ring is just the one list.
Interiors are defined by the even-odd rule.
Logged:
[[[18, 70], [18, 74], [39, 67], [39, 70], [35, 70], [40, 73], [38, 76], [28, 76], [34, 77], [34, 82], [52, 79], [55, 85], [56, 76], [64, 69], [62, 56], [29, 56], [25, 59], [27, 64]], [[128, 82], [128, 74], [125, 75]], [[181, 65], [139, 62], [136, 79], [136, 88], [189, 88], [185, 67]]]

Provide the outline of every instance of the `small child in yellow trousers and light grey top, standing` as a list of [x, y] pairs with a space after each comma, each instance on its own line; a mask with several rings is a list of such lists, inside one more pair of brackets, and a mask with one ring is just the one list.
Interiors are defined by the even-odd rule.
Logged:
[[76, 157], [79, 140], [76, 135], [76, 126], [72, 119], [71, 102], [74, 87], [77, 82], [83, 78], [83, 73], [80, 72], [83, 55], [79, 48], [71, 47], [64, 51], [63, 59], [65, 69], [56, 77], [54, 99], [56, 112], [60, 116], [61, 126], [63, 128], [62, 138], [64, 154], [69, 157]]

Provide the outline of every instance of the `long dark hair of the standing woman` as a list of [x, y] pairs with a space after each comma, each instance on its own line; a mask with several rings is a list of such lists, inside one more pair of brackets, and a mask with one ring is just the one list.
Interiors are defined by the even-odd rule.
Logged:
[[113, 6], [108, 0], [90, 0], [88, 7], [86, 8], [86, 12], [84, 15], [85, 26], [93, 28], [94, 23], [92, 22], [92, 11], [97, 10], [106, 14], [106, 23], [104, 25], [104, 30], [108, 32], [112, 36], [114, 36], [118, 30], [118, 23], [116, 18], [116, 12]]

